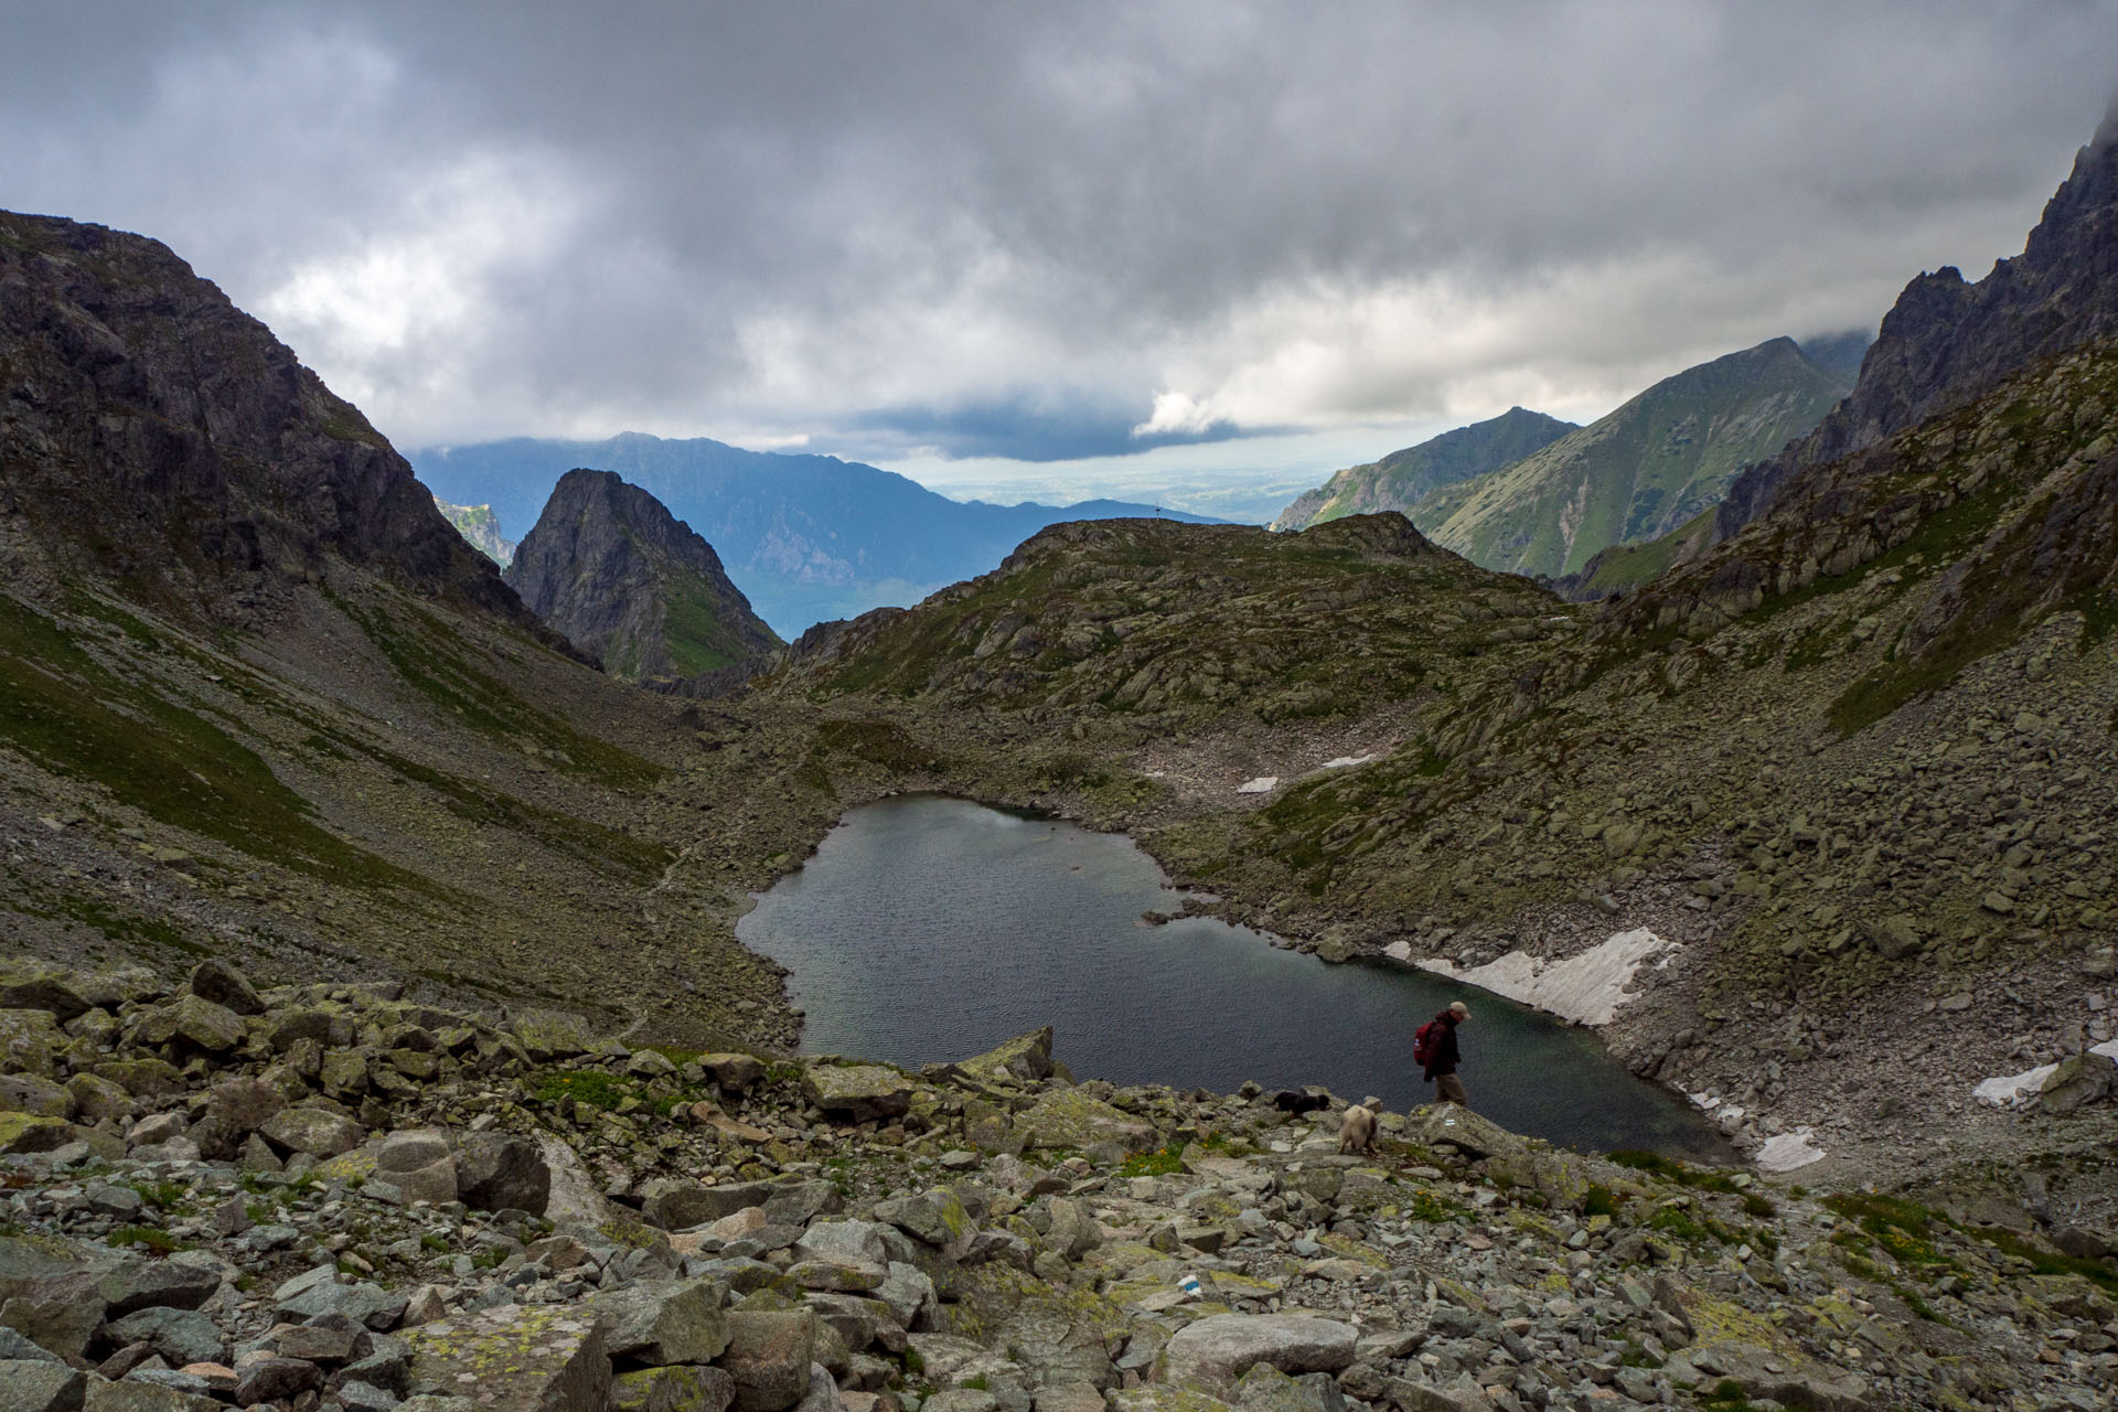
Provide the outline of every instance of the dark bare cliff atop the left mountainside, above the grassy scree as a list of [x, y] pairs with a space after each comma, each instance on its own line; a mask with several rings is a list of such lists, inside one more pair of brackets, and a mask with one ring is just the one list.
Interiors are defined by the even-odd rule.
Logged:
[[104, 227], [0, 214], [0, 519], [210, 618], [337, 557], [527, 624], [349, 402], [167, 246]]

